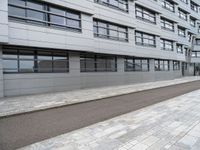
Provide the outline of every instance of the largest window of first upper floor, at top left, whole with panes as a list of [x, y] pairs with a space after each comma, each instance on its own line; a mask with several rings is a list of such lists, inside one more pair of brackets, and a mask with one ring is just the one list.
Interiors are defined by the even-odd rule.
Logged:
[[9, 0], [9, 19], [81, 31], [81, 14], [41, 1]]

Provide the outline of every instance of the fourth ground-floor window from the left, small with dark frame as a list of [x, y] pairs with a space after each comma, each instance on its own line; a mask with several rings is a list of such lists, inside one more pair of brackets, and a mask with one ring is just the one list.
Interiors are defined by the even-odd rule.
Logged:
[[169, 71], [169, 69], [168, 60], [155, 60], [155, 71]]

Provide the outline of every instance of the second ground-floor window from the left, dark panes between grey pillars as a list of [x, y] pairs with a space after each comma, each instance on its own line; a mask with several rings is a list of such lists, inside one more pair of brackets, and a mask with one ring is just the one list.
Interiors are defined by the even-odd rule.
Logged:
[[84, 53], [80, 56], [81, 72], [116, 72], [117, 58], [111, 55]]

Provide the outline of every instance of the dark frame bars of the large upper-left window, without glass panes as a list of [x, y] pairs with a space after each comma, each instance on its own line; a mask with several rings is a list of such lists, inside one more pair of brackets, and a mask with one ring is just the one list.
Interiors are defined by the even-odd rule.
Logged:
[[[76, 31], [76, 32], [82, 31], [81, 12], [75, 11], [75, 10], [72, 10], [72, 9], [68, 9], [68, 8], [64, 8], [64, 7], [61, 7], [61, 6], [55, 6], [53, 4], [46, 3], [46, 2], [32, 1], [32, 0], [24, 0], [24, 2], [25, 2], [25, 6], [8, 3], [9, 8], [10, 7], [21, 8], [21, 9], [25, 10], [25, 17], [21, 17], [21, 16], [17, 16], [17, 15], [10, 15], [9, 12], [8, 12], [8, 17], [9, 17], [10, 20], [29, 23], [29, 24], [35, 24], [35, 25], [40, 25], [40, 26], [45, 26], [45, 27], [53, 27], [53, 28], [71, 30], [71, 31]], [[43, 9], [39, 10], [37, 8], [31, 8], [31, 7], [28, 6], [29, 2], [39, 4], [39, 5], [43, 6]], [[63, 10], [63, 11], [65, 11], [65, 15], [61, 15], [61, 14], [58, 14], [58, 13], [51, 12], [50, 8], [56, 8], [56, 9], [59, 9], [59, 10]], [[28, 17], [28, 13], [27, 13], [28, 11], [35, 11], [37, 13], [43, 13], [44, 14], [43, 20], [38, 20], [38, 19]], [[68, 13], [73, 13], [73, 14], [77, 15], [78, 18], [69, 17], [69, 16], [67, 16]], [[65, 25], [61, 25], [59, 23], [51, 22], [51, 20], [50, 20], [51, 15], [57, 16], [57, 17], [62, 17], [63, 19], [65, 19]], [[70, 20], [78, 22], [79, 27], [75, 27], [75, 26], [73, 27], [73, 26], [68, 25], [67, 22], [70, 21]]]

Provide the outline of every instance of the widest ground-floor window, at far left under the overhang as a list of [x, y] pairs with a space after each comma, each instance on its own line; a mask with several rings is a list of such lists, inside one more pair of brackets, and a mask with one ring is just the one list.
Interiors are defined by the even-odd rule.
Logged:
[[69, 72], [68, 60], [68, 53], [65, 51], [3, 48], [4, 73]]

